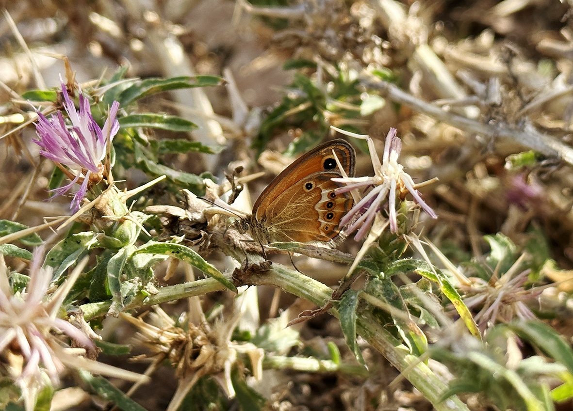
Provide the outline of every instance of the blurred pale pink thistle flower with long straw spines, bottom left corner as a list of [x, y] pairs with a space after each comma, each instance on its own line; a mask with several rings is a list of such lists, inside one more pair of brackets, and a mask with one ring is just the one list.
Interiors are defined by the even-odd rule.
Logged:
[[[83, 318], [70, 314], [59, 318], [66, 296], [83, 272], [77, 264], [68, 278], [50, 293], [52, 268], [41, 267], [42, 248], [34, 251], [30, 281], [25, 289], [13, 291], [9, 269], [0, 254], [0, 377], [8, 377], [21, 392], [26, 411], [33, 411], [38, 394], [48, 385], [57, 386], [66, 369], [147, 380], [146, 376], [89, 359], [97, 354], [92, 339], [99, 339]], [[72, 324], [79, 323], [79, 327]], [[68, 341], [73, 341], [70, 347]]]

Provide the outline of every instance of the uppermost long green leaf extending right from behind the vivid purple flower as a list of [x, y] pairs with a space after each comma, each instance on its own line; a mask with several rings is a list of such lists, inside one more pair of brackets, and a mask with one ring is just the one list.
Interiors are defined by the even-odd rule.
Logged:
[[119, 102], [122, 106], [127, 106], [135, 100], [155, 93], [194, 87], [218, 86], [224, 84], [224, 82], [225, 80], [218, 76], [146, 78], [125, 89], [119, 96]]

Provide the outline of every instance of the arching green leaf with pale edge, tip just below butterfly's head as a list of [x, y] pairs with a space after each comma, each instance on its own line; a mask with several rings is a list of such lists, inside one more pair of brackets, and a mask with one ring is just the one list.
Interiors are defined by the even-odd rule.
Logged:
[[235, 287], [235, 285], [231, 283], [230, 280], [226, 278], [226, 276], [223, 275], [221, 271], [217, 270], [217, 268], [206, 262], [201, 255], [197, 254], [197, 252], [191, 250], [189, 247], [183, 246], [182, 244], [160, 243], [151, 241], [139, 247], [135, 252], [138, 254], [141, 252], [148, 252], [151, 254], [164, 254], [185, 261], [191, 264], [193, 267], [199, 268], [199, 270], [203, 271], [205, 274], [223, 284], [223, 286], [227, 287], [227, 289], [237, 293], [237, 287]]

